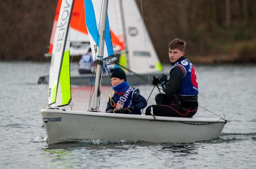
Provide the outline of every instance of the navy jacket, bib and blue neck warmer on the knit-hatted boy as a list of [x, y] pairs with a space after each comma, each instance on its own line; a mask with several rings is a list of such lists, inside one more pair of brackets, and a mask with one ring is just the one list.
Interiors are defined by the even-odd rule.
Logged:
[[111, 93], [108, 99], [106, 111], [134, 107], [135, 110], [130, 114], [141, 114], [140, 109], [147, 106], [147, 101], [140, 95], [140, 90], [138, 88], [129, 87], [129, 84], [127, 84], [127, 82], [123, 82], [113, 88], [116, 89], [118, 87], [124, 87]]

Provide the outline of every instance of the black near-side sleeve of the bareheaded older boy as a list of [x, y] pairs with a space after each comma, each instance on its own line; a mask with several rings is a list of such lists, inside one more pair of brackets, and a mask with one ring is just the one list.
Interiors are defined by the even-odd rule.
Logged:
[[172, 68], [169, 80], [167, 83], [162, 85], [164, 93], [170, 97], [173, 96], [175, 92], [180, 88], [184, 75], [184, 70], [181, 67], [176, 66]]

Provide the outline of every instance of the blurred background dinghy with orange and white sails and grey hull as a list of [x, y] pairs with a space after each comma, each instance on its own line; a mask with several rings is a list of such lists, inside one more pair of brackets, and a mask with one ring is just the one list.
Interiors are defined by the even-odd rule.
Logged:
[[[46, 56], [52, 55], [53, 38], [56, 32], [61, 1], [58, 1], [56, 8], [49, 51]], [[148, 77], [148, 73], [150, 77], [159, 76], [163, 68], [147, 29], [146, 27], [143, 28], [144, 23], [135, 0], [109, 0], [108, 4], [113, 50], [120, 54], [119, 64], [143, 77]], [[75, 0], [69, 28], [71, 56], [83, 55], [90, 47], [88, 30], [85, 24], [84, 0]], [[146, 50], [145, 45], [147, 46]], [[145, 63], [146, 56], [148, 57], [148, 68], [147, 64], [141, 64]], [[76, 85], [91, 85], [95, 81], [92, 74], [78, 74], [77, 71], [71, 72], [70, 78], [71, 84]], [[127, 72], [127, 81], [131, 85], [147, 84], [147, 81], [141, 80], [130, 72]], [[48, 75], [40, 76], [38, 79], [38, 83], [48, 82]], [[110, 85], [108, 73], [102, 74], [101, 84]]]

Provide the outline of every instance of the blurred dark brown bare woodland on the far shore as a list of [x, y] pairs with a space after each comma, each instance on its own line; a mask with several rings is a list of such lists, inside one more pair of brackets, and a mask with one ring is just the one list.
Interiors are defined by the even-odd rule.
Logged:
[[[1, 2], [0, 60], [44, 60], [57, 0]], [[231, 37], [226, 34], [239, 26], [252, 34], [247, 38], [255, 39], [255, 6], [255, 0], [142, 0], [144, 21], [162, 61], [168, 61], [167, 45], [174, 38], [189, 42], [191, 55], [209, 52], [210, 42], [226, 41]], [[238, 31], [237, 37], [243, 40], [244, 35]], [[193, 52], [195, 47], [198, 52]]]

